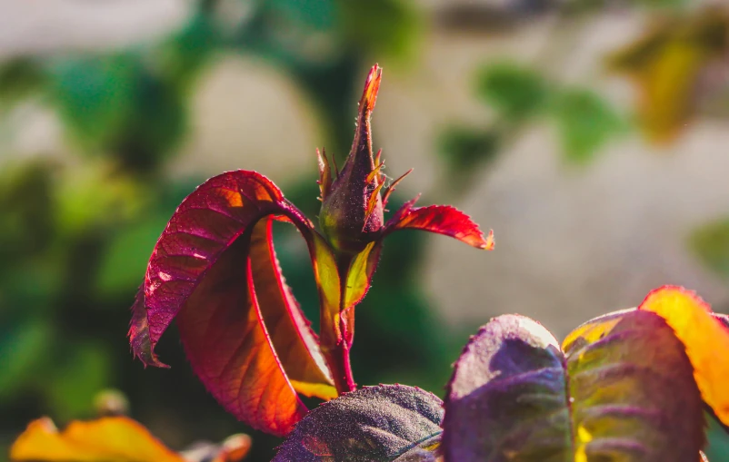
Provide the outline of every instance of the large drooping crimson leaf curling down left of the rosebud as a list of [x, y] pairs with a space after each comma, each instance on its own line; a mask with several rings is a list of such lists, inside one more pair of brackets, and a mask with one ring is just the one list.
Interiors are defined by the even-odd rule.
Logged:
[[198, 187], [157, 241], [130, 341], [137, 357], [160, 365], [155, 344], [176, 317], [205, 387], [235, 417], [283, 436], [306, 412], [297, 391], [336, 392], [281, 276], [275, 218], [294, 223], [312, 247], [311, 223], [263, 175], [226, 172]]

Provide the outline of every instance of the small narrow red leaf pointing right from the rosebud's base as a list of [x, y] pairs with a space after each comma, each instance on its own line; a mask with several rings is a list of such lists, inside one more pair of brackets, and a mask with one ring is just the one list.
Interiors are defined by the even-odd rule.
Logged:
[[491, 251], [494, 249], [494, 232], [484, 233], [478, 225], [463, 211], [450, 205], [430, 205], [428, 207], [413, 207], [416, 197], [405, 202], [394, 216], [385, 224], [385, 232], [395, 230], [414, 229], [437, 232], [451, 236], [458, 241], [465, 242], [477, 249]]

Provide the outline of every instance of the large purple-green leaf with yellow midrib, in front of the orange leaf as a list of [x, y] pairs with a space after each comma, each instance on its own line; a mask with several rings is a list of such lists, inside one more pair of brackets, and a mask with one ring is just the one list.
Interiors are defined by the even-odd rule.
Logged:
[[663, 319], [594, 319], [565, 340], [532, 319], [492, 319], [448, 385], [446, 462], [697, 460], [701, 398]]

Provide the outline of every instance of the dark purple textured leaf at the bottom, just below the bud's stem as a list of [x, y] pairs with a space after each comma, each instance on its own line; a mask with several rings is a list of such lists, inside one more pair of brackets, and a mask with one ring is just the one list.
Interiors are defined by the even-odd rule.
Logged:
[[434, 395], [404, 385], [346, 393], [299, 422], [273, 462], [390, 462], [415, 457], [418, 450], [437, 446], [431, 438], [441, 433], [442, 404]]

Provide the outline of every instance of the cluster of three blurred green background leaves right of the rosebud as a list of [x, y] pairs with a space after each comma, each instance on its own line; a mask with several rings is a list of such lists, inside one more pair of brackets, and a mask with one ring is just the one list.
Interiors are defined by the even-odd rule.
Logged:
[[475, 93], [494, 113], [483, 127], [454, 125], [439, 138], [438, 152], [449, 174], [459, 177], [454, 188], [464, 189], [474, 167], [494, 161], [528, 123], [554, 125], [568, 162], [584, 163], [620, 133], [628, 123], [598, 93], [559, 84], [536, 69], [512, 62], [484, 66]]

